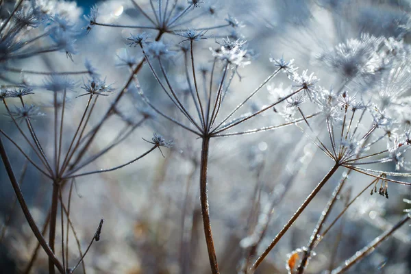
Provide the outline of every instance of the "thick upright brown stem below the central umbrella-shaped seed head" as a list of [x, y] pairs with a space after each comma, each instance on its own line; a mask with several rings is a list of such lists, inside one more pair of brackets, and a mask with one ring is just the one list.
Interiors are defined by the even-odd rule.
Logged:
[[208, 258], [210, 259], [211, 272], [219, 274], [219, 266], [217, 264], [216, 251], [214, 249], [214, 241], [212, 239], [210, 212], [208, 210], [207, 197], [207, 165], [208, 165], [208, 149], [210, 145], [210, 137], [203, 137], [203, 145], [201, 149], [201, 164], [200, 164], [200, 201], [201, 213], [203, 216], [204, 234], [208, 249]]

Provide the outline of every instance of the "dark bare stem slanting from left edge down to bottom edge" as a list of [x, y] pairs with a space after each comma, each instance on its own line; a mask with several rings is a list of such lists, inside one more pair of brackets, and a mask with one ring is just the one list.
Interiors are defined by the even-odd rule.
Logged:
[[[55, 257], [53, 250], [50, 249], [50, 247], [47, 245], [47, 242], [45, 238], [43, 238], [40, 230], [38, 229], [36, 222], [34, 221], [32, 214], [30, 214], [29, 208], [27, 206], [27, 203], [24, 199], [23, 192], [21, 192], [20, 186], [18, 186], [18, 182], [16, 179], [16, 176], [14, 175], [14, 171], [12, 169], [12, 165], [10, 164], [10, 160], [8, 159], [8, 155], [5, 152], [3, 142], [1, 141], [0, 138], [0, 155], [1, 159], [3, 160], [3, 164], [5, 167], [5, 170], [8, 173], [8, 177], [10, 179], [10, 182], [12, 183], [12, 187], [14, 192], [16, 193], [16, 197], [18, 200], [18, 203], [20, 203], [21, 209], [23, 210], [23, 214], [27, 220], [27, 223], [29, 223], [30, 228], [32, 229], [34, 236], [36, 236], [38, 242], [40, 242], [40, 245], [42, 246], [43, 249], [45, 249], [47, 256], [49, 256], [49, 261], [51, 264], [53, 264], [53, 271], [54, 271], [54, 266], [57, 266], [58, 270], [60, 273], [64, 273], [64, 269], [58, 258]], [[53, 272], [54, 273], [54, 272]]]

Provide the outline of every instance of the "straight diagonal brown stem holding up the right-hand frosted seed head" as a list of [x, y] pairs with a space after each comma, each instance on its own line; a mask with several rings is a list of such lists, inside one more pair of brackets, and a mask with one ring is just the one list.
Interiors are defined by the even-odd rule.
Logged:
[[251, 268], [251, 272], [255, 269], [257, 269], [257, 267], [261, 264], [262, 260], [264, 260], [264, 258], [266, 258], [266, 256], [269, 254], [269, 252], [271, 251], [271, 249], [273, 249], [273, 247], [275, 247], [275, 245], [277, 244], [277, 242], [279, 241], [279, 239], [282, 238], [282, 236], [284, 236], [284, 234], [286, 234], [287, 230], [291, 227], [291, 225], [295, 222], [295, 220], [298, 219], [298, 217], [300, 216], [300, 214], [306, 209], [306, 207], [308, 206], [308, 204], [312, 201], [312, 199], [314, 199], [314, 197], [317, 195], [317, 193], [321, 190], [321, 188], [325, 185], [325, 183], [329, 180], [329, 178], [332, 177], [332, 175], [337, 171], [338, 167], [340, 165], [339, 164], [335, 164], [332, 169], [330, 169], [327, 173], [327, 175], [325, 175], [325, 177], [323, 177], [323, 179], [321, 180], [321, 182], [319, 182], [319, 184], [316, 185], [316, 187], [314, 188], [314, 190], [312, 190], [312, 192], [310, 193], [310, 195], [308, 195], [308, 197], [306, 198], [306, 200], [301, 204], [301, 206], [297, 209], [297, 211], [292, 215], [291, 219], [288, 221], [288, 223], [286, 223], [286, 225], [284, 225], [284, 227], [281, 229], [281, 231], [277, 234], [277, 236], [275, 236], [275, 238], [273, 239], [273, 241], [271, 242], [271, 244], [269, 245], [269, 247], [267, 247], [264, 252], [262, 253], [262, 255], [256, 260], [256, 262], [253, 264], [252, 268]]

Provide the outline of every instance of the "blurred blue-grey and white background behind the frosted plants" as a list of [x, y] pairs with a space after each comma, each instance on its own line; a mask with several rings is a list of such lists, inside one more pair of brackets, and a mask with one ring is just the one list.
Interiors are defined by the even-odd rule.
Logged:
[[[47, 2], [38, 2], [43, 1]], [[4, 2], [10, 2], [10, 5], [14, 3]], [[148, 0], [136, 2], [143, 10], [150, 10]], [[194, 12], [207, 16], [201, 17], [200, 21], [193, 21], [192, 27], [221, 25], [227, 23], [225, 19], [229, 18], [228, 16], [234, 16], [240, 23], [235, 29], [217, 29], [206, 33], [208, 39], [201, 41], [196, 49], [198, 68], [210, 67], [212, 56], [209, 47], [215, 47], [216, 42], [221, 42], [223, 38], [247, 40], [247, 47], [253, 52], [251, 64], [238, 71], [238, 77], [234, 77], [229, 88], [226, 102], [229, 107], [225, 110], [227, 113], [273, 72], [270, 57], [294, 59], [295, 65], [301, 71], [308, 69], [309, 73], [314, 73], [321, 79], [321, 86], [329, 88], [338, 86], [341, 77], [319, 61], [320, 53], [348, 39], [360, 38], [362, 33], [393, 37], [406, 44], [410, 42], [411, 1], [406, 0], [203, 2]], [[66, 3], [64, 8], [60, 7], [60, 13], [66, 12], [66, 16], [80, 29], [76, 41], [78, 53], [73, 55], [73, 60], [67, 58], [64, 52], [56, 52], [19, 61], [15, 66], [25, 70], [47, 71], [51, 67], [55, 71], [75, 71], [84, 69], [84, 61], [87, 59], [108, 84], [112, 84], [113, 88], [121, 88], [129, 75], [127, 66], [123, 65], [124, 60], [142, 58], [140, 49], [128, 47], [126, 40], [130, 32], [137, 34], [138, 30], [93, 26], [90, 32], [86, 33], [83, 28], [88, 22], [83, 15], [89, 14], [91, 5], [96, 4], [99, 7], [97, 18], [100, 23], [147, 25], [147, 19], [136, 10], [132, 1]], [[186, 1], [178, 3], [182, 6], [187, 4]], [[212, 14], [210, 10], [213, 11]], [[188, 18], [191, 20], [192, 16]], [[186, 25], [191, 26], [190, 21]], [[146, 32], [151, 34], [151, 39], [155, 37], [154, 31]], [[164, 36], [163, 40], [169, 45], [184, 45], [179, 44], [182, 37], [171, 34]], [[182, 59], [182, 55], [176, 53], [166, 67], [171, 75], [177, 75], [173, 78], [174, 84], [184, 90], [186, 82], [181, 69], [184, 66], [180, 66]], [[9, 76], [14, 81], [25, 79], [37, 87], [34, 89], [35, 95], [29, 100], [40, 105], [46, 116], [38, 117], [34, 125], [44, 144], [53, 142], [49, 136], [49, 131], [53, 128], [51, 93], [41, 87], [46, 77], [25, 73]], [[82, 86], [86, 79], [87, 77], [82, 75], [75, 78], [78, 86]], [[147, 66], [143, 66], [138, 79], [151, 101], [162, 105], [165, 110], [172, 110], [172, 105], [166, 101]], [[256, 105], [272, 101], [278, 90], [285, 90], [291, 85], [292, 82], [285, 74], [279, 75], [252, 103], [246, 105], [247, 110], [252, 111]], [[75, 94], [71, 96], [70, 118], [66, 121], [65, 129], [70, 136], [86, 103], [85, 97], [76, 98], [81, 94], [81, 88], [77, 87]], [[99, 99], [90, 125], [98, 123], [113, 98], [114, 95]], [[122, 115], [110, 118], [99, 132], [97, 141], [90, 149], [90, 155], [110, 145], [127, 121], [139, 121], [143, 106], [137, 90], [130, 88], [127, 97], [119, 106]], [[0, 110], [5, 113], [3, 105]], [[281, 121], [275, 111], [270, 111], [243, 129], [276, 125]], [[5, 132], [18, 136], [8, 116], [0, 116], [0, 123]], [[95, 234], [99, 220], [105, 220], [101, 240], [92, 245], [85, 258], [87, 273], [171, 274], [210, 271], [199, 207], [201, 140], [157, 115], [147, 119], [115, 149], [93, 162], [87, 167], [87, 171], [116, 166], [147, 151], [150, 145], [142, 138], [150, 139], [153, 132], [159, 132], [166, 140], [174, 140], [173, 148], [162, 148], [165, 158], [160, 151], [153, 151], [143, 160], [118, 171], [81, 177], [75, 182], [71, 220], [83, 250]], [[47, 147], [46, 145], [46, 149]], [[382, 147], [385, 149], [385, 145]], [[12, 145], [7, 149], [15, 166], [14, 171], [18, 175], [25, 166], [24, 158]], [[247, 220], [256, 189], [260, 191], [262, 211], [264, 205], [275, 204], [273, 210], [267, 213], [271, 214], [271, 219], [257, 251], [261, 253], [333, 163], [298, 127], [293, 126], [234, 138], [216, 138], [212, 140], [210, 149], [208, 195], [217, 258], [221, 273], [238, 273], [245, 252], [242, 246], [245, 245], [244, 240], [248, 233]], [[52, 155], [52, 147], [45, 152]], [[395, 171], [395, 165], [388, 164], [386, 169]], [[343, 170], [332, 177], [271, 251], [257, 273], [287, 273], [288, 257], [296, 249], [307, 245], [312, 230], [342, 174]], [[33, 258], [36, 239], [25, 222], [21, 208], [16, 206], [14, 192], [3, 166], [0, 167], [0, 179], [0, 225], [3, 235], [0, 242], [0, 272], [23, 273]], [[340, 210], [343, 210], [345, 201], [350, 197], [349, 193], [352, 193], [353, 197], [371, 181], [371, 178], [364, 175], [351, 175], [332, 216], [337, 216]], [[21, 181], [21, 188], [41, 227], [51, 203], [51, 182], [32, 166], [28, 166]], [[67, 191], [64, 192], [64, 197], [66, 195]], [[327, 269], [331, 266], [342, 264], [353, 253], [382, 234], [401, 219], [403, 210], [411, 207], [404, 203], [403, 199], [411, 199], [411, 190], [407, 186], [391, 184], [389, 199], [369, 195], [367, 190], [336, 223], [321, 245], [316, 247], [316, 256], [310, 260], [306, 273], [328, 273]], [[375, 249], [371, 256], [347, 273], [411, 273], [410, 241], [410, 227], [405, 225]], [[59, 239], [56, 242], [59, 242]], [[74, 262], [75, 258], [78, 258], [74, 238], [69, 243], [69, 249]], [[182, 265], [189, 265], [189, 268], [184, 269]], [[38, 252], [31, 271], [47, 273], [47, 256], [42, 250]], [[77, 269], [75, 273], [82, 273], [82, 269]]]

